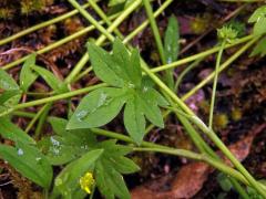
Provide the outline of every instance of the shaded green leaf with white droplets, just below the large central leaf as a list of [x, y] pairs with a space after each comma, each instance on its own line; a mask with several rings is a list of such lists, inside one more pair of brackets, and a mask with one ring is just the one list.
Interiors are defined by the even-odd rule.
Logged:
[[38, 145], [52, 165], [72, 161], [96, 144], [95, 136], [88, 130], [66, 130], [68, 121], [63, 118], [51, 117], [49, 122], [57, 135], [43, 138]]

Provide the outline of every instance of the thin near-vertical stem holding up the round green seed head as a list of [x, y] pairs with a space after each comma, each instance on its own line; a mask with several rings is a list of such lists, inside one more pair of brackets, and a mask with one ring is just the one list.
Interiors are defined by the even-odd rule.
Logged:
[[209, 107], [209, 118], [208, 118], [208, 127], [213, 128], [213, 114], [214, 114], [214, 104], [215, 104], [215, 94], [216, 94], [216, 87], [217, 87], [217, 81], [218, 81], [218, 73], [219, 73], [219, 65], [222, 60], [222, 54], [224, 51], [226, 41], [224, 40], [221, 44], [221, 49], [218, 51], [216, 64], [215, 64], [215, 71], [214, 71], [214, 83], [213, 83], [213, 92], [212, 92], [212, 100], [211, 100], [211, 107]]

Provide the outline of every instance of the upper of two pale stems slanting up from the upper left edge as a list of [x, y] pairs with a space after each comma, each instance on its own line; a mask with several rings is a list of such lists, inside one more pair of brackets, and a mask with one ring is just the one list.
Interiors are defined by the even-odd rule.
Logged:
[[[86, 4], [82, 6], [82, 7], [83, 7], [83, 8], [88, 8], [88, 7], [89, 7], [89, 3], [86, 3]], [[31, 33], [31, 32], [34, 32], [34, 31], [37, 31], [37, 30], [39, 30], [39, 29], [42, 29], [42, 28], [44, 28], [44, 27], [48, 27], [48, 25], [50, 25], [50, 24], [54, 24], [54, 23], [57, 23], [57, 22], [63, 21], [63, 20], [72, 17], [72, 15], [75, 15], [76, 13], [79, 13], [78, 10], [72, 10], [72, 11], [70, 11], [70, 12], [68, 12], [68, 13], [64, 13], [64, 14], [62, 14], [62, 15], [59, 15], [59, 17], [57, 17], [57, 18], [54, 18], [54, 19], [51, 19], [51, 20], [49, 20], [49, 21], [39, 23], [39, 24], [33, 25], [33, 27], [31, 27], [31, 28], [29, 28], [29, 29], [22, 30], [22, 31], [16, 33], [16, 34], [13, 34], [13, 35], [10, 35], [10, 36], [4, 38], [3, 40], [1, 40], [1, 41], [0, 41], [0, 45], [3, 45], [3, 44], [6, 44], [6, 43], [9, 43], [9, 42], [11, 42], [11, 41], [13, 41], [13, 40], [17, 40], [17, 39], [25, 35], [25, 34], [29, 34], [29, 33]]]

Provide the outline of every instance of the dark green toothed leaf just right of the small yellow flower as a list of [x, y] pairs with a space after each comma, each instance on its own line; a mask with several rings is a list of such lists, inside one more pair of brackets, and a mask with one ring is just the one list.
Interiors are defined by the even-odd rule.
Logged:
[[129, 190], [121, 174], [132, 174], [140, 168], [131, 159], [124, 157], [132, 148], [116, 145], [115, 140], [106, 140], [99, 145], [104, 149], [95, 165], [96, 186], [105, 198], [130, 198]]

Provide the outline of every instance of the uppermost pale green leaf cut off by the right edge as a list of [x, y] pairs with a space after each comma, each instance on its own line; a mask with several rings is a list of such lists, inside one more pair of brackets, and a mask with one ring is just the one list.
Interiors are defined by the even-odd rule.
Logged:
[[266, 6], [263, 6], [255, 10], [252, 17], [248, 19], [249, 23], [254, 24], [254, 33], [255, 34], [264, 34], [266, 33]]

